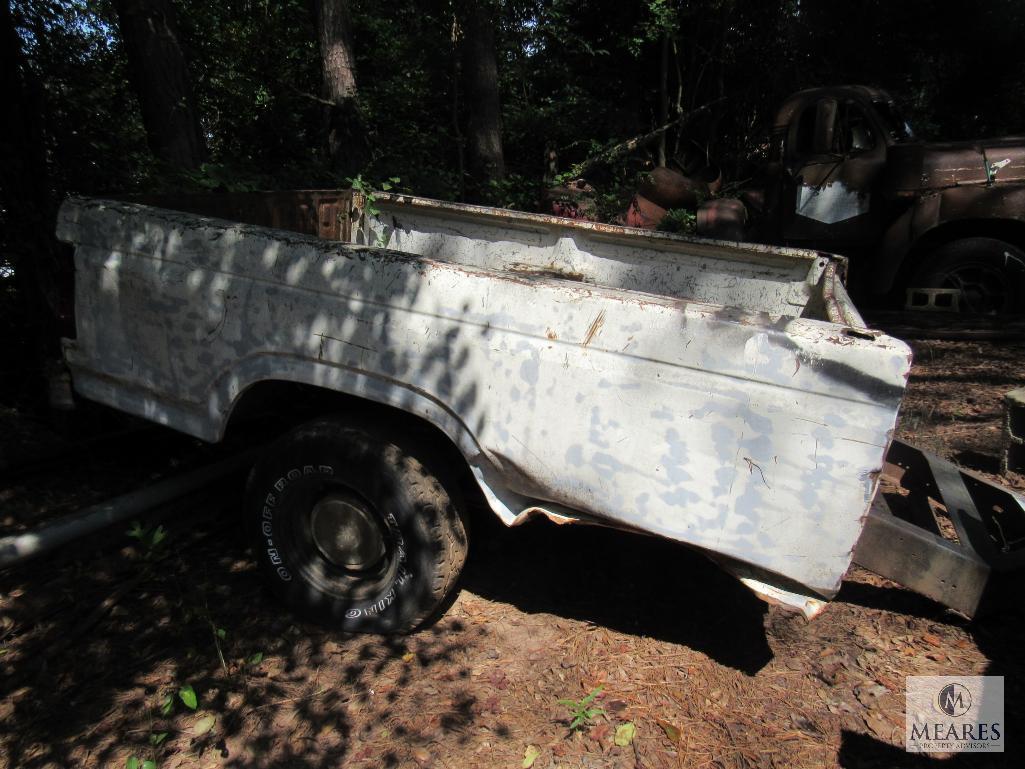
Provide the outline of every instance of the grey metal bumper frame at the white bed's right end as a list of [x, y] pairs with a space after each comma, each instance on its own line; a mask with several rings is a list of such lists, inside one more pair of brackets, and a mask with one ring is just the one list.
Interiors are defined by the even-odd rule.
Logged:
[[[854, 560], [875, 573], [974, 617], [997, 577], [1025, 566], [1025, 499], [936, 454], [893, 441], [905, 504], [876, 496]], [[932, 504], [949, 519], [945, 531]], [[946, 534], [946, 535], [944, 535]]]

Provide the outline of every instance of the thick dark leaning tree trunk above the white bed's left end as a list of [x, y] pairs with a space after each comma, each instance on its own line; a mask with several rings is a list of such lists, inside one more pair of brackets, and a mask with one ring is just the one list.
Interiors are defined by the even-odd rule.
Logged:
[[205, 145], [171, 0], [114, 0], [153, 154], [197, 168]]

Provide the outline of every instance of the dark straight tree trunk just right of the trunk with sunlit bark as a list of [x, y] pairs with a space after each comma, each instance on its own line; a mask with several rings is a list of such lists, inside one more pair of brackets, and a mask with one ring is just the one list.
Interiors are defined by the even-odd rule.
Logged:
[[466, 96], [466, 165], [473, 197], [496, 202], [490, 183], [505, 175], [502, 115], [495, 55], [496, 7], [486, 0], [462, 5], [462, 72]]

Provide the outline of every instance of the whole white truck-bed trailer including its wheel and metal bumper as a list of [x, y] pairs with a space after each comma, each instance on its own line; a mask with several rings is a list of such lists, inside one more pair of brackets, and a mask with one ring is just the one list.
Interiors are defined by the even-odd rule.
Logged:
[[347, 191], [151, 202], [60, 209], [75, 390], [206, 441], [294, 414], [245, 507], [299, 612], [423, 622], [469, 493], [508, 525], [678, 540], [808, 615], [856, 549], [980, 599], [992, 526], [950, 543], [871, 508], [910, 353], [866, 328], [840, 257]]

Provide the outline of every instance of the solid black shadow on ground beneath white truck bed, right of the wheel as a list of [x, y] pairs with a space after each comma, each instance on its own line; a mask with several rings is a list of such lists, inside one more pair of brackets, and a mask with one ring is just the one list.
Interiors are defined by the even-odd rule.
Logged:
[[505, 530], [489, 516], [474, 520], [465, 590], [527, 613], [685, 645], [748, 675], [772, 658], [766, 605], [703, 556], [592, 526], [538, 520]]

